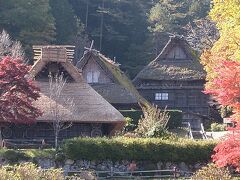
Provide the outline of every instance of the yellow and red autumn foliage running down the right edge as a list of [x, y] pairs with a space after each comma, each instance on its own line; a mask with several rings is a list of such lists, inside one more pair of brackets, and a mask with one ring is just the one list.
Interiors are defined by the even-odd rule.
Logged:
[[214, 149], [213, 161], [220, 167], [232, 166], [240, 171], [240, 1], [213, 0], [209, 13], [220, 37], [205, 50], [201, 60], [207, 71], [206, 93], [223, 106], [231, 107], [234, 133], [228, 134]]

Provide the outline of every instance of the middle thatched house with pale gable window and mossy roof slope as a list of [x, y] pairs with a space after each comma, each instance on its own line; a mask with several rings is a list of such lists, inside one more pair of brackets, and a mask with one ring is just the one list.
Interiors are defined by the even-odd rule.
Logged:
[[86, 50], [77, 63], [84, 79], [109, 103], [115, 107], [134, 106], [138, 102], [138, 92], [131, 81], [120, 70], [120, 64], [105, 57], [96, 50]]

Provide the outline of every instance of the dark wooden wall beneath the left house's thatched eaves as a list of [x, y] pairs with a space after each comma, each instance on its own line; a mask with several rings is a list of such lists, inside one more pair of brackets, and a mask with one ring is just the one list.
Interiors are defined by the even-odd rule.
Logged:
[[[73, 123], [71, 127], [60, 131], [59, 139], [73, 137], [91, 137], [95, 132], [100, 130], [101, 136], [109, 135], [110, 124], [90, 124], [90, 123]], [[4, 139], [44, 139], [46, 142], [53, 142], [54, 130], [51, 123], [36, 123], [33, 125], [14, 125], [9, 124], [1, 128]]]

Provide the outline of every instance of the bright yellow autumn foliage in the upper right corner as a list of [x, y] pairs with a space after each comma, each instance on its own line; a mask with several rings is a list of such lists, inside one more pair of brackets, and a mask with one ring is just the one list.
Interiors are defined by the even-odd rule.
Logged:
[[213, 0], [209, 13], [216, 22], [220, 38], [201, 55], [207, 71], [207, 87], [215, 77], [214, 68], [223, 60], [240, 61], [240, 0]]

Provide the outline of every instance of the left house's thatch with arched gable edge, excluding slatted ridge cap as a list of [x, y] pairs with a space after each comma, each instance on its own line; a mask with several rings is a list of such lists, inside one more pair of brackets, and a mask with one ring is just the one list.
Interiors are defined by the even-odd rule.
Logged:
[[[38, 46], [39, 47], [39, 46]], [[51, 46], [47, 48], [51, 49]], [[65, 48], [64, 46], [54, 46], [54, 48]], [[124, 117], [111, 104], [109, 104], [101, 95], [99, 95], [90, 85], [84, 82], [79, 70], [70, 62], [58, 61], [56, 59], [42, 59], [41, 56], [33, 65], [29, 74], [34, 78], [47, 63], [60, 63], [68, 74], [74, 79], [72, 83], [66, 83], [62, 91], [62, 96], [72, 99], [75, 104], [75, 111], [70, 112], [63, 101], [57, 102], [61, 111], [69, 113], [66, 116], [66, 121], [73, 122], [92, 122], [92, 123], [113, 123], [116, 126], [122, 125]], [[41, 90], [41, 97], [36, 102], [37, 106], [43, 111], [43, 115], [38, 118], [38, 121], [51, 121], [54, 119], [50, 112], [50, 104], [53, 101], [49, 97], [49, 83], [37, 81]], [[69, 117], [71, 119], [69, 119]]]

